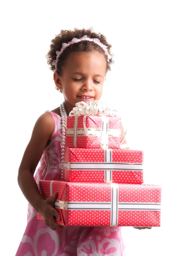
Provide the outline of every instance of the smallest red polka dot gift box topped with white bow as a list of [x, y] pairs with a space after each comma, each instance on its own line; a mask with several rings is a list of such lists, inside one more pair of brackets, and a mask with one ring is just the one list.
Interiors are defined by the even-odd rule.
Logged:
[[78, 102], [67, 117], [67, 148], [120, 148], [121, 118], [104, 103]]

